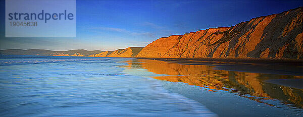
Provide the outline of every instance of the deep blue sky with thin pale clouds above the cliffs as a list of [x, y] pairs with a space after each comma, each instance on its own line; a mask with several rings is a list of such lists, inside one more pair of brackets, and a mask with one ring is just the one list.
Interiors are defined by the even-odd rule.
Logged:
[[303, 6], [303, 1], [77, 1], [77, 37], [5, 37], [0, 1], [0, 49], [115, 50], [144, 47], [172, 34], [229, 27]]

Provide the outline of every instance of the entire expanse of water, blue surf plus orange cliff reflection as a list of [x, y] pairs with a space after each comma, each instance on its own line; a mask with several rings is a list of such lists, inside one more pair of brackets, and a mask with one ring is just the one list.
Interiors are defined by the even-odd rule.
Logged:
[[303, 90], [270, 82], [302, 76], [227, 71], [220, 65], [238, 64], [205, 63], [2, 55], [0, 115], [303, 115]]

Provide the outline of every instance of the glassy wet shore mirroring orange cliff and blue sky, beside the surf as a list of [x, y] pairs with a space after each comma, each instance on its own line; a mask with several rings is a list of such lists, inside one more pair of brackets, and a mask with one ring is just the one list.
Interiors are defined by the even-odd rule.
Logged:
[[[292, 69], [296, 69], [293, 74], [303, 73], [302, 66], [299, 65], [294, 67], [284, 65], [284, 69], [281, 69], [283, 65], [277, 64], [230, 62], [201, 64], [196, 61], [146, 59], [129, 60], [126, 63], [128, 63], [124, 66], [126, 73], [161, 80], [165, 89], [198, 101], [219, 116], [303, 115], [303, 89], [296, 88], [302, 87], [303, 76], [291, 75]], [[288, 69], [290, 67], [292, 69]], [[251, 69], [241, 69], [246, 72], [234, 71], [239, 68]], [[137, 74], [140, 69], [145, 70], [145, 73], [157, 75]], [[258, 73], [254, 73], [256, 71]], [[282, 85], [271, 80], [295, 82]]]

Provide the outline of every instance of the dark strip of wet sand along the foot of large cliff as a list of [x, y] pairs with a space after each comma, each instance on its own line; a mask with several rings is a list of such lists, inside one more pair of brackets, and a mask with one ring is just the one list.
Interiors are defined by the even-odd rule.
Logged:
[[177, 63], [182, 65], [207, 65], [215, 66], [215, 69], [263, 73], [263, 74], [278, 74], [278, 75], [293, 75], [303, 76], [303, 61], [288, 60], [288, 59], [172, 59], [172, 58], [138, 58], [148, 60], [158, 60], [168, 63]]

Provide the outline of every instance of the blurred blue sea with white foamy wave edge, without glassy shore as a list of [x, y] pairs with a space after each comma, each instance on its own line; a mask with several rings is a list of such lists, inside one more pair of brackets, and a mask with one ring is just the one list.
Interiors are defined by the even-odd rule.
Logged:
[[122, 73], [131, 59], [1, 56], [1, 116], [216, 116], [160, 81]]

